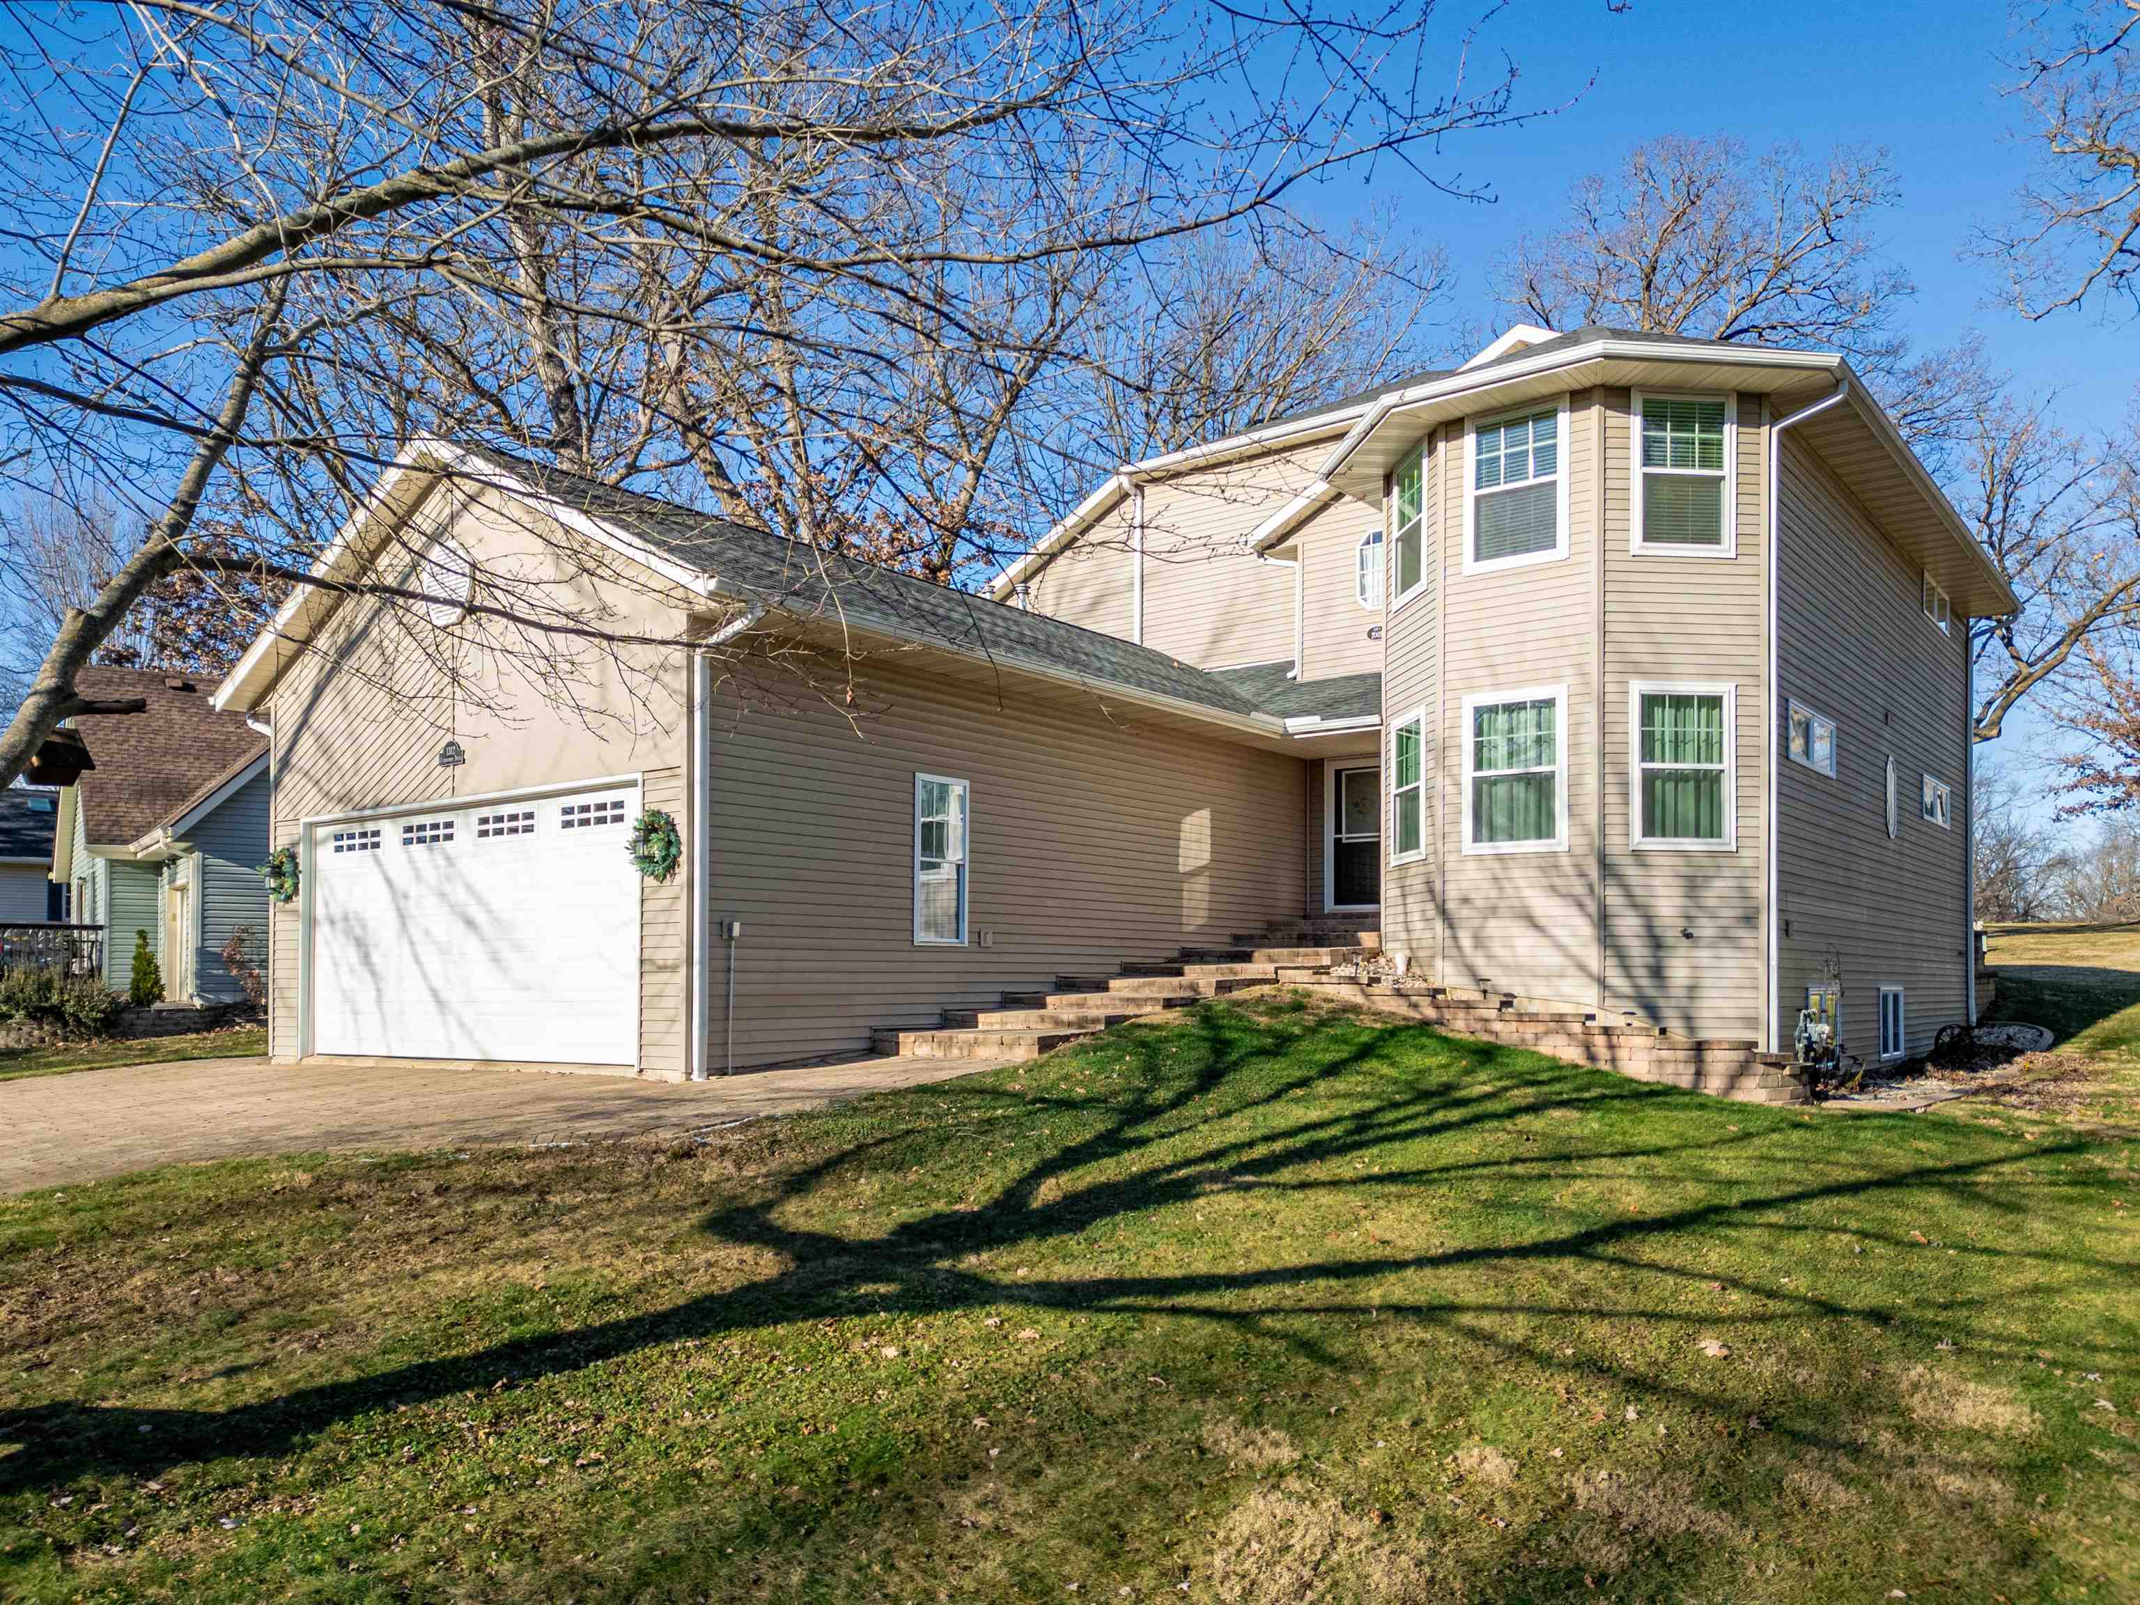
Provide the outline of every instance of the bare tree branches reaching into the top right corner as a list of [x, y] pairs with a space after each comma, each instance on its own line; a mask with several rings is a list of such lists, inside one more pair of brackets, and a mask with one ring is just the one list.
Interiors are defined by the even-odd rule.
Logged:
[[2022, 54], [2007, 94], [2029, 109], [2035, 169], [1980, 250], [2005, 265], [2024, 317], [2089, 300], [2140, 308], [2140, 0], [2014, 15]]

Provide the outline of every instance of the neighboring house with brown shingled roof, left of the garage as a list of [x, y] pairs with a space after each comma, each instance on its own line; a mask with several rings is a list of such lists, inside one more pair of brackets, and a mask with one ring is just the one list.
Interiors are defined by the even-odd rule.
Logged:
[[148, 702], [71, 719], [32, 768], [64, 781], [51, 877], [71, 886], [79, 924], [105, 927], [105, 982], [126, 991], [135, 933], [148, 931], [167, 999], [242, 1002], [223, 948], [250, 927], [265, 959], [265, 738], [184, 674], [86, 668], [77, 685]]

